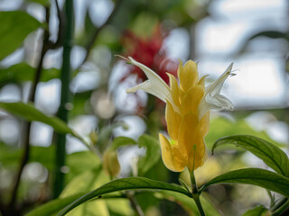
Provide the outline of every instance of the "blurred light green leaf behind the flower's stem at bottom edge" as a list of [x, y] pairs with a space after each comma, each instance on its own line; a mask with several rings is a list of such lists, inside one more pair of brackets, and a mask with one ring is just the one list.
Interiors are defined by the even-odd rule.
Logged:
[[[182, 193], [175, 193], [171, 191], [157, 192], [154, 193], [154, 195], [159, 199], [168, 199], [173, 202], [178, 202], [186, 211], [190, 212], [190, 215], [199, 215], [198, 207], [191, 197], [188, 197]], [[210, 202], [208, 194], [202, 193], [200, 195], [200, 202], [206, 215], [221, 215], [215, 206]]]

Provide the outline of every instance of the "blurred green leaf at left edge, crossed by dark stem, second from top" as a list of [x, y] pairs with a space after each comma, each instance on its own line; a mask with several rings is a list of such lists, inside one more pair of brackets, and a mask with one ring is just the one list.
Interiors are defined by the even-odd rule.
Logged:
[[[26, 63], [15, 64], [8, 68], [0, 69], [0, 86], [6, 83], [23, 81], [32, 81], [35, 75], [36, 68], [29, 66]], [[47, 82], [53, 78], [60, 77], [60, 70], [56, 68], [42, 69], [42, 82]]]

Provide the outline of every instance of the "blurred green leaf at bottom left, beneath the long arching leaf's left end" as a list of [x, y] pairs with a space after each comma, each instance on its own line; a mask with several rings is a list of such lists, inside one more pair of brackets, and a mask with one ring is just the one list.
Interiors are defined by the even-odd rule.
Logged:
[[61, 209], [83, 194], [84, 193], [78, 193], [65, 198], [52, 200], [51, 202], [47, 202], [40, 207], [33, 209], [33, 211], [28, 212], [25, 216], [55, 216]]

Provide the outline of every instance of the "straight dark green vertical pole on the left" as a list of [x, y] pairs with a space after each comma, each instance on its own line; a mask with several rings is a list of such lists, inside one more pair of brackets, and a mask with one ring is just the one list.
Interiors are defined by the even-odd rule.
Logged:
[[[65, 2], [65, 36], [63, 40], [63, 63], [61, 68], [61, 105], [58, 117], [68, 121], [68, 103], [70, 95], [70, 51], [72, 48], [73, 34], [73, 1]], [[65, 165], [65, 142], [66, 135], [59, 134], [56, 140], [56, 170], [54, 179], [54, 198], [58, 197], [64, 187], [64, 173], [62, 167]]]

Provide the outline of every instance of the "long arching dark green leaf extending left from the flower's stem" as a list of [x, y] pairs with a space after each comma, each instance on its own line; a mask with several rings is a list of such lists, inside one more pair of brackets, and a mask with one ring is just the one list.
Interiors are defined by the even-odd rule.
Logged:
[[87, 202], [93, 198], [98, 198], [103, 194], [112, 193], [123, 190], [167, 190], [174, 191], [178, 193], [183, 193], [187, 196], [191, 196], [191, 193], [187, 192], [181, 186], [176, 184], [168, 184], [165, 182], [154, 181], [144, 177], [129, 177], [121, 178], [111, 181], [103, 186], [99, 187], [97, 190], [85, 194], [80, 197], [75, 202], [70, 203], [66, 208], [64, 208], [58, 216], [65, 215], [75, 207], [79, 206], [83, 202]]

